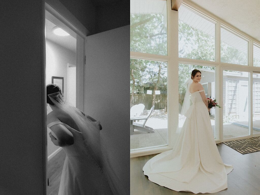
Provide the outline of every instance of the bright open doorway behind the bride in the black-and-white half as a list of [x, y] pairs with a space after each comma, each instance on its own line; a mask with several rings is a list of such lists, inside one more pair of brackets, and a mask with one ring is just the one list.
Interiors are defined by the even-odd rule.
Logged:
[[[48, 6], [46, 7], [48, 9]], [[57, 84], [66, 104], [83, 110], [84, 39], [55, 10], [45, 10], [46, 85]], [[47, 106], [47, 114], [52, 110]], [[54, 145], [47, 127], [47, 194], [58, 194], [65, 153]]]

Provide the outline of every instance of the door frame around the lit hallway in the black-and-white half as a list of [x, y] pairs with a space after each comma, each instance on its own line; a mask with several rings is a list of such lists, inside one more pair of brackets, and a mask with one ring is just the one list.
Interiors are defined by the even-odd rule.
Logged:
[[[83, 111], [83, 105], [84, 105], [84, 97], [83, 97], [83, 90], [84, 90], [84, 44], [86, 44], [86, 36], [90, 34], [90, 32], [73, 16], [69, 10], [58, 0], [46, 0], [44, 4], [44, 8], [42, 9], [43, 16], [45, 16], [43, 19], [43, 23], [45, 24], [45, 18], [49, 19], [50, 21], [53, 21], [54, 23], [59, 22], [59, 24], [62, 25], [62, 27], [70, 33], [71, 36], [76, 38], [76, 107]], [[43, 28], [44, 29], [44, 28]], [[44, 33], [44, 31], [43, 31]], [[44, 40], [45, 43], [45, 40]], [[43, 46], [44, 52], [45, 51], [45, 45]], [[45, 53], [44, 53], [45, 56]], [[45, 59], [44, 59], [45, 60]], [[43, 70], [44, 69], [44, 70]], [[44, 87], [42, 89], [42, 93], [46, 94], [46, 63], [43, 67], [43, 77], [44, 79]], [[45, 96], [46, 98], [46, 96]], [[46, 100], [45, 100], [46, 102]], [[46, 104], [42, 104], [43, 110], [46, 110]], [[46, 151], [45, 155], [43, 155], [43, 177], [44, 177], [44, 194], [47, 193], [47, 133], [46, 127], [47, 127], [47, 121], [46, 121], [46, 114], [43, 114], [43, 125], [45, 128], [43, 128], [43, 150]], [[45, 123], [45, 124], [44, 124]]]

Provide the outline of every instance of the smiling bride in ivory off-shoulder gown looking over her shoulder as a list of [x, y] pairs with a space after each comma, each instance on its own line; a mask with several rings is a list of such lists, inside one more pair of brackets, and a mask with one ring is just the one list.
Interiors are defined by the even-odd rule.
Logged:
[[[175, 191], [214, 193], [224, 190], [232, 165], [218, 152], [202, 85], [201, 72], [191, 73], [181, 114], [187, 118], [172, 150], [158, 154], [143, 167], [148, 179]], [[192, 105], [190, 106], [190, 100]]]

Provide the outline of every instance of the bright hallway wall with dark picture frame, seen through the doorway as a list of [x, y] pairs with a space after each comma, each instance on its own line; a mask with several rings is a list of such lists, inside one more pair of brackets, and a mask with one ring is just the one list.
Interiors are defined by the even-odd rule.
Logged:
[[[68, 99], [68, 63], [76, 64], [76, 53], [68, 50], [48, 39], [46, 39], [46, 84], [51, 83], [51, 77], [63, 77], [64, 97]], [[47, 106], [47, 114], [51, 108]], [[53, 154], [59, 146], [54, 145], [49, 137], [50, 129], [47, 127], [47, 151], [48, 157]]]

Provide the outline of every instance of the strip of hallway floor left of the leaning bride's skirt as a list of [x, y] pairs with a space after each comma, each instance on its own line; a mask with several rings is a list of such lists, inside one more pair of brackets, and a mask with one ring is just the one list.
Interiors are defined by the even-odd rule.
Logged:
[[47, 195], [57, 195], [59, 192], [65, 157], [65, 152], [61, 150], [48, 161], [47, 177], [49, 178], [49, 186], [47, 186]]

